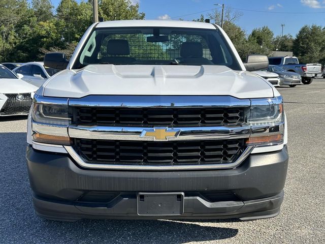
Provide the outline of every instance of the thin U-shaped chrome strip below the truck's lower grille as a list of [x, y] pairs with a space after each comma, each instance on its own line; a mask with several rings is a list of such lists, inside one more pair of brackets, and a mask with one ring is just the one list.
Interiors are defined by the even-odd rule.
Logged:
[[206, 164], [206, 165], [118, 165], [118, 164], [90, 164], [85, 162], [73, 149], [72, 146], [63, 146], [68, 154], [76, 161], [76, 163], [88, 169], [106, 169], [106, 170], [205, 170], [205, 169], [233, 169], [239, 166], [254, 149], [254, 146], [248, 146], [241, 156], [234, 163], [230, 164]]

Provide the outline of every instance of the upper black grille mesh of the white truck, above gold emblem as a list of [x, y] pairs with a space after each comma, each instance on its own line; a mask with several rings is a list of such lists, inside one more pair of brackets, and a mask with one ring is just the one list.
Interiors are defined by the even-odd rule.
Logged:
[[74, 124], [99, 126], [235, 126], [244, 108], [74, 107]]

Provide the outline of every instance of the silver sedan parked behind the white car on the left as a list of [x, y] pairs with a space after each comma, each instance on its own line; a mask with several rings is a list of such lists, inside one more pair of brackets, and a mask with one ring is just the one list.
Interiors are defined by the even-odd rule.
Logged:
[[30, 62], [13, 70], [16, 74], [22, 74], [23, 80], [40, 87], [48, 78], [60, 70], [45, 67], [43, 62]]

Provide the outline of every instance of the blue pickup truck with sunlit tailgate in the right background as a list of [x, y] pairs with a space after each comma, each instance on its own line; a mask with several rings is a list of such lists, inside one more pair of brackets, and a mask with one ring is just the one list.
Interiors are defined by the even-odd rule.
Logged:
[[321, 77], [321, 64], [299, 64], [297, 57], [269, 57], [270, 65], [301, 75], [304, 84], [310, 84], [312, 78]]

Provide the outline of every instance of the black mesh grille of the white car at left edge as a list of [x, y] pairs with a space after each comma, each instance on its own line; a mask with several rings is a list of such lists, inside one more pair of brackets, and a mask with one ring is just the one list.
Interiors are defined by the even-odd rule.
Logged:
[[5, 106], [1, 109], [0, 114], [26, 114], [29, 112], [32, 99], [30, 93], [20, 94], [24, 98], [23, 100], [17, 100], [18, 94], [5, 94], [8, 98]]

